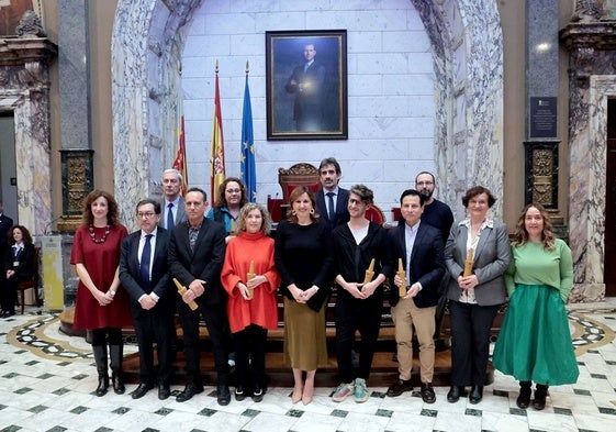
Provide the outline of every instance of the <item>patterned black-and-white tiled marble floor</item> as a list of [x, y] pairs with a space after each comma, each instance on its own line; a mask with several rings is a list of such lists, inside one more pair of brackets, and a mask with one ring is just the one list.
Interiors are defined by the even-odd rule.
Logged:
[[270, 388], [260, 403], [232, 400], [227, 407], [216, 403], [212, 387], [183, 403], [159, 401], [156, 391], [139, 400], [113, 392], [99, 398], [89, 345], [58, 333], [54, 315], [35, 312], [0, 320], [0, 432], [616, 431], [615, 301], [572, 311], [580, 379], [551, 387], [544, 411], [519, 410], [517, 383], [497, 372], [475, 406], [448, 403], [445, 387], [436, 389], [434, 405], [411, 394], [387, 398], [385, 388], [370, 388], [365, 403], [335, 403], [332, 388], [318, 388], [309, 406], [293, 406], [290, 388]]

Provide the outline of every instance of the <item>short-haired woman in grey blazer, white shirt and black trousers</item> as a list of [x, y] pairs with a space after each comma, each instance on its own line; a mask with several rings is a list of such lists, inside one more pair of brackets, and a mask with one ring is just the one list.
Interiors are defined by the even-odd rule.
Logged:
[[451, 388], [447, 400], [457, 402], [471, 386], [469, 402], [479, 403], [490, 354], [490, 330], [505, 302], [503, 274], [511, 259], [507, 226], [488, 215], [496, 202], [483, 186], [462, 197], [467, 218], [451, 228], [445, 246], [449, 272], [447, 298], [451, 320]]

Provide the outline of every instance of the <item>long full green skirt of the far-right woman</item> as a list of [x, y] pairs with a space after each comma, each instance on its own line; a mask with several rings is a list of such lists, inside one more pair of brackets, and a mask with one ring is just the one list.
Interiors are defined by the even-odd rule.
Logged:
[[492, 364], [520, 381], [573, 384], [575, 361], [567, 310], [557, 289], [517, 285], [494, 346]]

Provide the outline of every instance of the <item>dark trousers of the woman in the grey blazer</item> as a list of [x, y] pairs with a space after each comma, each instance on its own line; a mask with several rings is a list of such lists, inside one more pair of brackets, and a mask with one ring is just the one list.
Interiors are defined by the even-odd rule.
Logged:
[[500, 307], [449, 301], [452, 386], [485, 384], [490, 330]]

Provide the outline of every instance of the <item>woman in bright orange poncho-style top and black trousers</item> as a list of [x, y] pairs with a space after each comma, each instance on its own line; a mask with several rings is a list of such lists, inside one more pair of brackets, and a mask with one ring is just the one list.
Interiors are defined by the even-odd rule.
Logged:
[[239, 230], [228, 242], [221, 281], [228, 293], [227, 315], [235, 343], [235, 399], [260, 402], [266, 391], [267, 331], [278, 328], [276, 291], [280, 276], [273, 264], [271, 218], [257, 203], [245, 204]]

